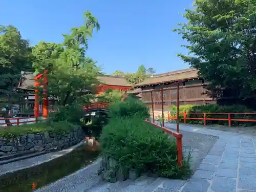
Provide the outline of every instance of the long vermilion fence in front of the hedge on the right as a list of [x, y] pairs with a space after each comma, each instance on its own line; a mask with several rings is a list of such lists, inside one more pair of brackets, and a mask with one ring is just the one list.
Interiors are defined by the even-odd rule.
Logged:
[[[172, 115], [175, 115], [172, 117]], [[202, 115], [202, 117], [189, 117], [188, 115]], [[207, 117], [207, 115], [225, 115], [227, 118], [212, 118]], [[228, 126], [231, 127], [232, 121], [244, 121], [244, 122], [256, 122], [256, 119], [234, 119], [231, 118], [232, 115], [255, 115], [256, 113], [180, 113], [180, 119], [184, 119], [184, 123], [187, 122], [187, 120], [202, 120], [204, 122], [204, 125], [207, 124], [207, 120], [218, 120], [218, 121], [228, 121]], [[176, 113], [168, 113], [168, 121], [172, 119], [177, 119]]]

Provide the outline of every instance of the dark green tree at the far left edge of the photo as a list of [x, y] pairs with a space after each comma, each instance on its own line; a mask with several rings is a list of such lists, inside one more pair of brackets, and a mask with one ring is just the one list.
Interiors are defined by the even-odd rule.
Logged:
[[[7, 103], [2, 103], [2, 112], [8, 118], [12, 108], [12, 100], [19, 95], [14, 91], [18, 85], [20, 71], [31, 71], [31, 48], [29, 42], [23, 39], [17, 28], [0, 26], [0, 94], [8, 97]], [[9, 120], [6, 120], [9, 123]]]

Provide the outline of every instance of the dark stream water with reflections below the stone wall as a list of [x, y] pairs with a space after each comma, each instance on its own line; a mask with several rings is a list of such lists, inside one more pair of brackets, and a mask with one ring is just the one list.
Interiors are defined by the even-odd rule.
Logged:
[[30, 192], [93, 163], [99, 151], [78, 147], [67, 155], [40, 165], [0, 176], [0, 192]]

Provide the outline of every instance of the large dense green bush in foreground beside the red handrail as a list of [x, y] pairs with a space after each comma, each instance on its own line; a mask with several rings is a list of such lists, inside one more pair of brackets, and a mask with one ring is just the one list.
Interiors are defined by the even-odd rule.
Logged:
[[177, 178], [184, 167], [177, 166], [175, 140], [138, 116], [112, 118], [100, 137], [103, 155], [114, 158], [124, 169]]

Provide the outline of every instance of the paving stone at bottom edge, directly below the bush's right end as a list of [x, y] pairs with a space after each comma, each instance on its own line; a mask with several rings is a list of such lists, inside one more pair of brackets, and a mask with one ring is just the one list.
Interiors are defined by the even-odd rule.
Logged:
[[182, 192], [206, 192], [209, 186], [210, 183], [206, 179], [190, 179], [185, 184]]

